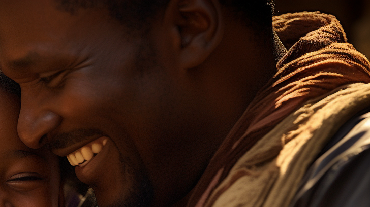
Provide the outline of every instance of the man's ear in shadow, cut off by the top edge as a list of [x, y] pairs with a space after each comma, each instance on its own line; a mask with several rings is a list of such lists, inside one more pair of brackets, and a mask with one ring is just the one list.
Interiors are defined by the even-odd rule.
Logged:
[[175, 31], [181, 68], [201, 64], [222, 40], [224, 21], [219, 0], [172, 0], [165, 18]]

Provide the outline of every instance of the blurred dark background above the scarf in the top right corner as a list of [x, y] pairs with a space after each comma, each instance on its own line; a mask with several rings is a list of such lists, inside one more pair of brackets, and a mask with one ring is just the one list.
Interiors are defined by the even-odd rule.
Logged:
[[348, 42], [370, 58], [370, 0], [275, 0], [275, 15], [300, 11], [336, 16]]

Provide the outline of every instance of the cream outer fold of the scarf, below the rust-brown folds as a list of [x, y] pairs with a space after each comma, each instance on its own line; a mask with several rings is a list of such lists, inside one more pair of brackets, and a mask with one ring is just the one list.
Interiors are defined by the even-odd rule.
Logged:
[[366, 107], [370, 84], [362, 83], [307, 102], [238, 160], [205, 206], [287, 207], [328, 139]]

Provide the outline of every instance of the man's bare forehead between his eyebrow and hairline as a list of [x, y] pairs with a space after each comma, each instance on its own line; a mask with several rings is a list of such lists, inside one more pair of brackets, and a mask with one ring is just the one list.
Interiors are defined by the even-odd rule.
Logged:
[[89, 39], [88, 32], [99, 29], [98, 15], [84, 14], [86, 11], [71, 15], [58, 10], [53, 2], [0, 2], [0, 63], [3, 67], [24, 67], [66, 55], [71, 53], [71, 48], [78, 50], [81, 42]]

